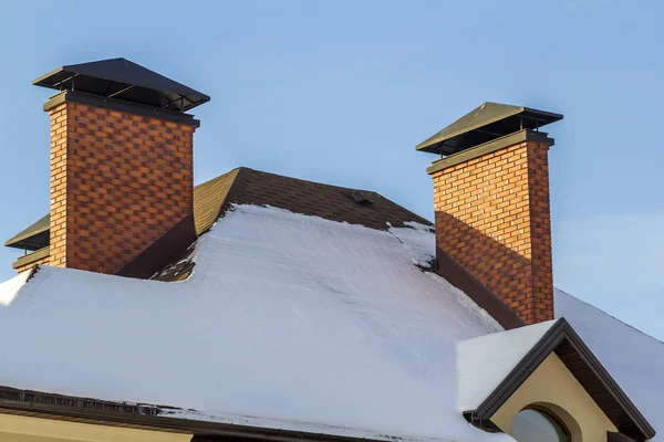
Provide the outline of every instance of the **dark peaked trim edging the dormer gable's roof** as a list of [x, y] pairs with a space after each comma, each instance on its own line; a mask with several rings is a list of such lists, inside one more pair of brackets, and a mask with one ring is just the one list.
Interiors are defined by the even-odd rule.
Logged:
[[[574, 350], [579, 352], [581, 359], [585, 361], [598, 381], [602, 383], [611, 397], [620, 404], [624, 417], [629, 418], [630, 422], [641, 433], [639, 440], [646, 441], [654, 438], [655, 430], [564, 318], [558, 319], [551, 326], [539, 343], [528, 351], [517, 367], [476, 410], [467, 411], [466, 413], [473, 415], [478, 422], [490, 422], [496, 411], [502, 407], [507, 399], [563, 340], [570, 343]], [[593, 398], [593, 400], [595, 399]], [[614, 424], [621, 432], [625, 432], [622, 430], [624, 425], [620, 422], [614, 422]]]

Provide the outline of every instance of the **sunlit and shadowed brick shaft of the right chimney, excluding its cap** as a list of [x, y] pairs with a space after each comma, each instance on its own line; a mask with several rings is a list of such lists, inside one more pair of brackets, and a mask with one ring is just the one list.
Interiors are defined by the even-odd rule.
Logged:
[[527, 324], [553, 318], [549, 145], [434, 172], [436, 243]]

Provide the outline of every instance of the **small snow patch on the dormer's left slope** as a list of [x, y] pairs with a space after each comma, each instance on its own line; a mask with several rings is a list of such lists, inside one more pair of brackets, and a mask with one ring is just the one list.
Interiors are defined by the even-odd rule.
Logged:
[[556, 320], [457, 343], [459, 411], [476, 410]]

